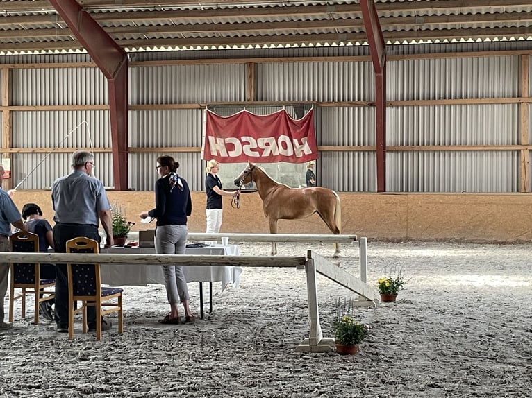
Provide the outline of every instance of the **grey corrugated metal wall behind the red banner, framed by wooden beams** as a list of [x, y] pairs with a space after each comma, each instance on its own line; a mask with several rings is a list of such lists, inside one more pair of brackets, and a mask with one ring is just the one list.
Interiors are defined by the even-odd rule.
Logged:
[[[388, 53], [430, 53], [530, 49], [529, 42], [389, 46]], [[367, 55], [367, 47], [338, 49], [272, 49], [249, 51], [181, 51], [131, 54], [132, 60], [229, 58], [231, 56]], [[87, 62], [88, 56], [10, 55], [1, 63]], [[519, 96], [518, 56], [392, 60], [388, 62], [388, 100], [499, 98]], [[244, 101], [245, 64], [196, 64], [131, 67], [132, 105]], [[374, 101], [370, 62], [268, 62], [257, 66], [259, 101]], [[532, 81], [532, 71], [530, 75]], [[97, 68], [13, 69], [13, 105], [105, 105], [107, 83]], [[532, 87], [529, 90], [532, 96]], [[388, 146], [463, 146], [519, 144], [520, 105], [412, 105], [389, 107]], [[229, 112], [231, 107], [216, 107]], [[235, 107], [236, 109], [237, 107]], [[256, 110], [266, 112], [269, 107]], [[277, 110], [279, 107], [272, 107]], [[287, 108], [288, 109], [288, 108]], [[238, 109], [240, 110], [240, 109]], [[292, 110], [293, 111], [293, 110]], [[532, 112], [529, 105], [529, 111]], [[290, 110], [289, 110], [290, 112]], [[374, 146], [374, 107], [317, 107], [319, 146]], [[131, 110], [130, 146], [137, 148], [200, 147], [202, 110]], [[76, 128], [76, 126], [79, 126]], [[74, 131], [72, 131], [74, 130]], [[67, 141], [62, 142], [69, 135]], [[532, 135], [529, 126], [529, 137]], [[530, 139], [530, 138], [529, 138]], [[57, 146], [109, 148], [107, 110], [13, 112], [15, 148]], [[69, 154], [15, 153], [15, 185], [40, 164], [22, 185], [49, 187], [69, 170]], [[131, 153], [129, 184], [151, 190], [155, 159], [163, 153]], [[172, 155], [172, 154], [171, 154]], [[199, 152], [175, 153], [192, 189], [203, 189]], [[44, 160], [43, 160], [44, 159]], [[387, 153], [388, 191], [515, 192], [519, 190], [519, 151], [400, 150]], [[337, 191], [375, 191], [375, 154], [371, 151], [322, 152], [317, 162], [319, 182]], [[240, 165], [238, 165], [240, 167]], [[284, 166], [272, 167], [276, 173]], [[297, 169], [297, 168], [296, 168]], [[113, 185], [110, 153], [97, 155], [97, 174]], [[140, 171], [140, 172], [139, 172]], [[299, 173], [297, 169], [296, 173]], [[532, 173], [531, 173], [532, 175]], [[273, 175], [274, 176], [274, 175]], [[274, 176], [275, 178], [275, 176]]]

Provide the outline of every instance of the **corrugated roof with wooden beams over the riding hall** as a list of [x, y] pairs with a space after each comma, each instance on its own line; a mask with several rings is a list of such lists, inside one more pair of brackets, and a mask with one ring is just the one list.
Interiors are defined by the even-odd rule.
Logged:
[[[78, 0], [126, 51], [365, 44], [360, 1]], [[530, 0], [376, 0], [386, 44], [532, 40]], [[83, 51], [47, 0], [0, 3], [0, 53]]]

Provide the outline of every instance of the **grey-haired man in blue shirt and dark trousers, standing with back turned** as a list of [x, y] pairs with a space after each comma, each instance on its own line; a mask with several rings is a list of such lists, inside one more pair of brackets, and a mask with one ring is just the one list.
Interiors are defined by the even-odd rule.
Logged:
[[[72, 155], [72, 173], [53, 182], [51, 201], [56, 215], [53, 220], [53, 245], [56, 253], [67, 252], [69, 239], [85, 236], [101, 241], [99, 223], [106, 232], [106, 245], [113, 245], [111, 205], [103, 184], [92, 177], [94, 155], [86, 150], [76, 150]], [[56, 323], [57, 331], [68, 332], [68, 279], [67, 265], [56, 266]], [[96, 331], [96, 308], [87, 309], [89, 331]], [[110, 322], [102, 320], [101, 329], [108, 330]]]

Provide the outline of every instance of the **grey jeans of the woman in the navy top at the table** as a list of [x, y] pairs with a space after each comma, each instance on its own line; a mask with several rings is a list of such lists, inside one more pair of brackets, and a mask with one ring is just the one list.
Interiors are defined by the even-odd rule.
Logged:
[[[185, 254], [188, 228], [186, 225], [161, 225], [155, 232], [157, 254]], [[188, 301], [188, 286], [183, 266], [163, 266], [169, 304]], [[180, 300], [181, 299], [181, 300]]]

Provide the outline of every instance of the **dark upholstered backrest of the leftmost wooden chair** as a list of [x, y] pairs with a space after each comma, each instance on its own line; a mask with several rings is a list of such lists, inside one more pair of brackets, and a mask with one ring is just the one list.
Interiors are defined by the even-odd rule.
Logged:
[[[39, 252], [39, 236], [31, 232], [19, 231], [9, 237], [12, 252]], [[13, 263], [13, 282], [15, 284], [35, 284], [39, 279], [38, 263]]]

